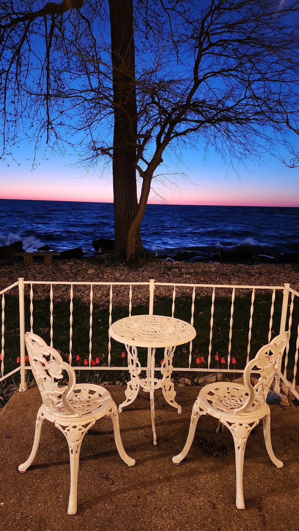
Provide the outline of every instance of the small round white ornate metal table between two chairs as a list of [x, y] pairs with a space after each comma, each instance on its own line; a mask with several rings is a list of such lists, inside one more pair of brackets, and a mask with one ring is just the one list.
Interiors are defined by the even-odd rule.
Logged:
[[[173, 355], [177, 345], [183, 345], [196, 336], [196, 331], [191, 324], [166, 317], [164, 315], [134, 315], [119, 319], [109, 328], [110, 336], [123, 343], [127, 351], [128, 369], [131, 380], [127, 382], [125, 390], [126, 399], [119, 406], [119, 413], [123, 407], [132, 404], [138, 395], [140, 386], [150, 393], [151, 424], [153, 444], [157, 444], [155, 429], [155, 404], [153, 392], [162, 389], [163, 396], [170, 404], [177, 408], [177, 413], [182, 413], [182, 408], [175, 401], [176, 392], [174, 383], [170, 380], [173, 370]], [[148, 348], [148, 363], [146, 378], [140, 378], [141, 366], [136, 347]], [[162, 378], [155, 378], [155, 352], [156, 348], [164, 347], [164, 360], [161, 365]]]

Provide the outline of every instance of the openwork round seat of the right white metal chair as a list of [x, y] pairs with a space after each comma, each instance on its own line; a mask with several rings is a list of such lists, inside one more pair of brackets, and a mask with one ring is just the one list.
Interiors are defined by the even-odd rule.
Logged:
[[[204, 386], [198, 396], [199, 406], [207, 409], [213, 417], [238, 417], [234, 415], [236, 409], [244, 406], [248, 400], [249, 392], [240, 383], [218, 382]], [[258, 415], [257, 415], [258, 413]], [[253, 412], [242, 413], [242, 417], [259, 416], [257, 409]]]

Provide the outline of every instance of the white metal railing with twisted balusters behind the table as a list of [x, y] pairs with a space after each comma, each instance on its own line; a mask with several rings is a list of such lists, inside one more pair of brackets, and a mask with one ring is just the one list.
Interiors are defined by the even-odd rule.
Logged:
[[[25, 365], [25, 344], [24, 344], [24, 334], [25, 334], [25, 319], [24, 319], [24, 286], [30, 286], [30, 330], [33, 332], [33, 288], [38, 285], [48, 286], [49, 288], [49, 297], [50, 297], [50, 322], [49, 322], [49, 332], [50, 332], [50, 346], [53, 346], [53, 322], [54, 322], [54, 314], [53, 314], [53, 308], [54, 308], [54, 297], [53, 297], [53, 287], [54, 286], [69, 286], [70, 293], [69, 293], [69, 302], [70, 302], [70, 329], [69, 331], [65, 331], [67, 335], [69, 335], [70, 342], [69, 342], [69, 363], [72, 364], [72, 335], [73, 335], [73, 297], [74, 297], [74, 287], [75, 286], [87, 286], [89, 289], [89, 344], [87, 345], [87, 352], [88, 352], [88, 366], [73, 366], [74, 370], [84, 370], [84, 371], [123, 371], [123, 366], [111, 366], [111, 341], [110, 337], [108, 337], [108, 366], [92, 366], [91, 360], [92, 360], [92, 317], [93, 317], [93, 290], [96, 286], [106, 286], [109, 288], [109, 326], [112, 323], [112, 310], [113, 310], [113, 290], [116, 286], [127, 286], [129, 287], [129, 300], [127, 301], [128, 304], [128, 314], [131, 315], [132, 311], [132, 286], [135, 288], [140, 288], [141, 286], [144, 288], [144, 286], [148, 287], [148, 296], [149, 296], [149, 315], [152, 315], [153, 313], [153, 302], [154, 302], [154, 295], [155, 295], [155, 288], [160, 287], [168, 287], [168, 289], [172, 290], [172, 316], [174, 316], [175, 312], [175, 304], [176, 304], [176, 292], [178, 288], [185, 288], [187, 290], [191, 290], [191, 308], [190, 308], [190, 322], [193, 325], [194, 324], [194, 301], [195, 296], [200, 294], [200, 289], [211, 289], [211, 317], [210, 317], [210, 327], [209, 330], [207, 330], [208, 338], [209, 338], [209, 346], [208, 346], [208, 367], [206, 369], [202, 368], [200, 371], [202, 372], [236, 372], [236, 373], [243, 373], [243, 369], [235, 369], [235, 367], [232, 367], [231, 365], [231, 349], [232, 349], [232, 336], [233, 336], [233, 322], [234, 322], [234, 302], [235, 302], [235, 296], [240, 293], [241, 290], [244, 293], [248, 292], [251, 294], [251, 307], [250, 307], [250, 315], [249, 315], [249, 332], [248, 332], [248, 342], [247, 342], [247, 357], [246, 357], [246, 363], [249, 362], [250, 359], [250, 353], [251, 353], [251, 335], [252, 335], [252, 323], [254, 318], [254, 301], [255, 301], [255, 295], [258, 292], [264, 292], [265, 290], [267, 292], [271, 291], [271, 308], [270, 308], [270, 318], [269, 318], [269, 332], [268, 332], [268, 342], [271, 339], [271, 333], [272, 333], [272, 318], [274, 314], [274, 305], [275, 305], [275, 299], [276, 299], [276, 293], [282, 292], [283, 293], [283, 301], [281, 305], [281, 315], [280, 315], [280, 330], [279, 333], [282, 333], [285, 331], [286, 326], [288, 330], [291, 332], [292, 327], [292, 321], [293, 321], [293, 309], [294, 309], [294, 298], [299, 297], [299, 293], [296, 292], [294, 289], [290, 287], [289, 284], [285, 284], [284, 286], [244, 286], [244, 285], [219, 285], [219, 284], [180, 284], [177, 282], [155, 282], [155, 280], [151, 279], [149, 282], [83, 282], [83, 281], [76, 281], [76, 282], [58, 282], [58, 281], [31, 281], [26, 280], [24, 281], [23, 278], [19, 278], [18, 282], [15, 282], [11, 286], [8, 286], [7, 288], [0, 291], [0, 295], [2, 297], [2, 339], [1, 339], [1, 345], [2, 345], [2, 351], [1, 351], [1, 378], [0, 382], [2, 382], [4, 379], [8, 378], [9, 376], [12, 376], [14, 373], [20, 371], [21, 376], [21, 383], [20, 383], [20, 391], [25, 391], [27, 389], [26, 384], [26, 371], [30, 370], [29, 365]], [[19, 288], [19, 314], [20, 314], [20, 366], [16, 367], [12, 371], [5, 374], [5, 296], [7, 293], [11, 293], [13, 290], [16, 289], [16, 287]], [[227, 369], [215, 369], [211, 368], [211, 352], [212, 352], [212, 344], [213, 344], [213, 323], [214, 323], [214, 307], [215, 307], [215, 297], [216, 292], [218, 290], [221, 290], [221, 293], [227, 293], [230, 294], [231, 298], [231, 304], [230, 304], [230, 315], [229, 315], [229, 340], [228, 340], [228, 356], [227, 356]], [[291, 298], [291, 301], [289, 303], [289, 300]], [[299, 299], [297, 299], [299, 301]], [[288, 312], [289, 308], [289, 312]], [[288, 315], [288, 323], [287, 323], [287, 315]], [[54, 345], [55, 347], [55, 345]], [[290, 374], [290, 367], [288, 365], [288, 359], [290, 357], [289, 353], [289, 342], [286, 347], [286, 354], [284, 358], [284, 367], [281, 369], [279, 367], [278, 375], [276, 377], [275, 382], [275, 389], [279, 390], [279, 382], [280, 379], [282, 379], [286, 385], [292, 389], [292, 392], [294, 395], [299, 399], [299, 394], [295, 390], [295, 384], [296, 384], [296, 373], [297, 373], [297, 361], [298, 361], [298, 349], [299, 349], [299, 323], [296, 328], [296, 344], [295, 344], [295, 353], [294, 353], [294, 365], [291, 367], [292, 369], [292, 381], [287, 380], [287, 376]], [[255, 355], [256, 352], [253, 353]], [[292, 356], [293, 357], [293, 356]], [[189, 366], [188, 367], [174, 367], [174, 371], [179, 372], [198, 372], [198, 368], [191, 367], [191, 361], [192, 361], [192, 341], [189, 345]], [[146, 367], [141, 367], [141, 370], [146, 370]], [[156, 371], [160, 371], [160, 367], [155, 368]]]

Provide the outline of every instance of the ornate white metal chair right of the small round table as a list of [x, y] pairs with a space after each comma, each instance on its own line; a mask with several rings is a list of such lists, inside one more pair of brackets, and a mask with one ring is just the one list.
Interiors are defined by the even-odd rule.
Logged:
[[[236, 453], [236, 506], [245, 509], [243, 498], [243, 463], [247, 438], [260, 419], [263, 419], [264, 440], [267, 452], [272, 462], [281, 468], [284, 464], [274, 455], [270, 438], [270, 408], [266, 398], [275, 373], [280, 367], [281, 357], [289, 340], [289, 332], [284, 332], [260, 348], [258, 354], [247, 363], [244, 371], [244, 386], [238, 383], [219, 382], [210, 383], [203, 387], [192, 407], [191, 422], [186, 444], [173, 463], [178, 464], [190, 450], [195, 428], [201, 415], [207, 413], [219, 419], [232, 433]], [[270, 354], [272, 353], [272, 354]], [[257, 366], [260, 378], [253, 387], [250, 383], [250, 373]]]

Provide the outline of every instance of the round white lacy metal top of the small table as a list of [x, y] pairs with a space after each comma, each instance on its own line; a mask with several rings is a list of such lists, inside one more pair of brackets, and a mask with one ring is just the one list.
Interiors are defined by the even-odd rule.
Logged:
[[164, 315], [133, 315], [113, 323], [109, 328], [113, 339], [135, 347], [174, 347], [194, 339], [191, 324]]

